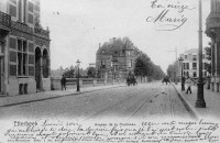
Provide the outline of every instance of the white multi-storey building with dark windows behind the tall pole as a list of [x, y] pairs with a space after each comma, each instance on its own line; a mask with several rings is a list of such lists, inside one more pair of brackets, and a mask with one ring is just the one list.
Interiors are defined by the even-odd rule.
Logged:
[[[198, 78], [199, 77], [198, 48], [188, 50], [185, 53], [180, 54], [180, 57], [184, 59], [182, 63], [183, 75], [189, 76], [193, 78]], [[209, 76], [209, 73], [207, 70], [207, 64], [210, 64], [210, 62], [207, 59], [206, 52], [202, 51], [202, 76], [204, 77]], [[180, 76], [180, 73], [179, 73], [179, 76]]]

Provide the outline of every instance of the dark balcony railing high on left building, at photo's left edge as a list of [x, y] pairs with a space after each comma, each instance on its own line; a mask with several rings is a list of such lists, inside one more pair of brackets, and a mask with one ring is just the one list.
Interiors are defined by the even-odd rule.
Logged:
[[11, 15], [0, 11], [0, 30], [10, 31], [11, 28]]

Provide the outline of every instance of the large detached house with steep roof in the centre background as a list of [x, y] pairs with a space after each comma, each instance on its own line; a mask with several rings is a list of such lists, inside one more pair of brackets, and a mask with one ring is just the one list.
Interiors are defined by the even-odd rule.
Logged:
[[129, 73], [133, 74], [135, 59], [141, 53], [128, 37], [113, 37], [103, 45], [99, 44], [96, 55], [97, 77], [125, 79]]

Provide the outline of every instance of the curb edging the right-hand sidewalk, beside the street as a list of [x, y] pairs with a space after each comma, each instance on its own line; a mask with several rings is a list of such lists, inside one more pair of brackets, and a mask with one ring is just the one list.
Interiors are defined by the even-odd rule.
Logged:
[[177, 90], [176, 86], [175, 86], [173, 82], [172, 82], [172, 85], [173, 85], [174, 88], [176, 89], [176, 92], [177, 92], [179, 99], [182, 100], [184, 107], [186, 108], [186, 110], [189, 112], [189, 114], [190, 114], [194, 119], [198, 120], [198, 119], [199, 119], [199, 118], [198, 118], [198, 117], [199, 117], [199, 116], [198, 116], [199, 113], [195, 110], [195, 108], [191, 106], [191, 103], [189, 103], [189, 102], [186, 100], [186, 98], [180, 94], [180, 91]]

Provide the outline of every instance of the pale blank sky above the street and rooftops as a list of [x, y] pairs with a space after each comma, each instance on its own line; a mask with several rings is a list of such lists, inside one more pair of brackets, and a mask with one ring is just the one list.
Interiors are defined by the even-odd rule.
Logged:
[[[176, 6], [176, 7], [175, 7]], [[202, 0], [202, 30], [210, 1]], [[160, 15], [163, 19], [157, 19]], [[198, 0], [41, 0], [41, 23], [51, 31], [51, 68], [96, 63], [99, 43], [129, 36], [164, 72], [177, 55], [198, 48]], [[161, 18], [160, 16], [160, 18]], [[209, 37], [204, 33], [204, 47]]]

